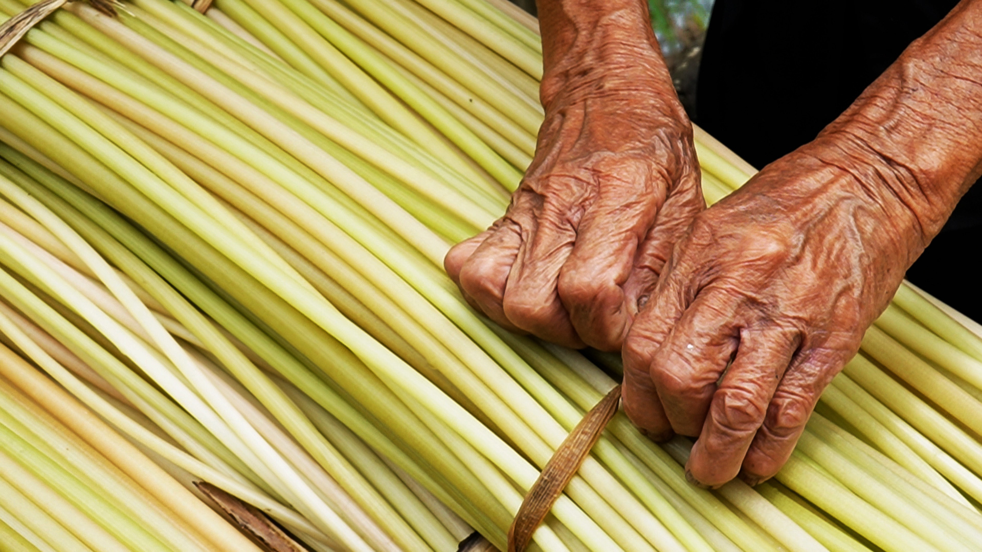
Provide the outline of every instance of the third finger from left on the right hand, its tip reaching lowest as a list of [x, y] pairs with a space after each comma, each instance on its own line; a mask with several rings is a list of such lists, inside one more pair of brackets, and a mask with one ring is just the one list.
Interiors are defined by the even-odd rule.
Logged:
[[736, 477], [798, 343], [792, 330], [742, 332], [692, 447], [686, 469], [693, 479], [716, 487]]

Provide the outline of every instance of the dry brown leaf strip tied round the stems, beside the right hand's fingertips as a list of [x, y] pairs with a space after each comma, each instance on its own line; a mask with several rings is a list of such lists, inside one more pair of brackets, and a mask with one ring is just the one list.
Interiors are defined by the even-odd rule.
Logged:
[[508, 552], [522, 552], [532, 541], [532, 533], [546, 519], [553, 504], [559, 500], [573, 475], [590, 455], [590, 449], [597, 444], [607, 422], [617, 414], [620, 403], [621, 386], [618, 385], [579, 420], [563, 444], [556, 449], [532, 488], [528, 489], [515, 521], [508, 529]]

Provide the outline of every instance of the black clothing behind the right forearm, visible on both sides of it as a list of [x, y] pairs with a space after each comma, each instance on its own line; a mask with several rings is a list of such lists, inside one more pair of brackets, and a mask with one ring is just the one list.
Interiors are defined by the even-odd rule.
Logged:
[[[693, 119], [755, 167], [810, 141], [956, 0], [716, 0]], [[982, 185], [907, 272], [975, 320]]]

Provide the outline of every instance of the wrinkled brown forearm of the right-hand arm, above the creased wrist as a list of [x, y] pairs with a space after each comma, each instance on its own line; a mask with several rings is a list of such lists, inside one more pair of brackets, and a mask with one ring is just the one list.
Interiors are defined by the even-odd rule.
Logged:
[[909, 209], [912, 262], [982, 173], [982, 1], [911, 43], [816, 141], [869, 159], [872, 192]]

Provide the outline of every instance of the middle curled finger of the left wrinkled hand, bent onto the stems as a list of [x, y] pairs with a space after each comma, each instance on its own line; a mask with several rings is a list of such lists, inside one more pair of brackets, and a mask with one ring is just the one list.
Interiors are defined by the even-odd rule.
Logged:
[[538, 193], [522, 196], [522, 200], [531, 205], [517, 209], [517, 212], [528, 216], [521, 226], [529, 230], [518, 244], [502, 309], [508, 320], [521, 330], [552, 343], [579, 349], [583, 342], [576, 335], [569, 313], [559, 299], [558, 285], [560, 269], [576, 241], [574, 225], [577, 221], [570, 218], [570, 203], [580, 202], [580, 197], [573, 191], [582, 188], [582, 183], [572, 178], [549, 176], [539, 185], [563, 189], [566, 193], [545, 194], [544, 199]]

